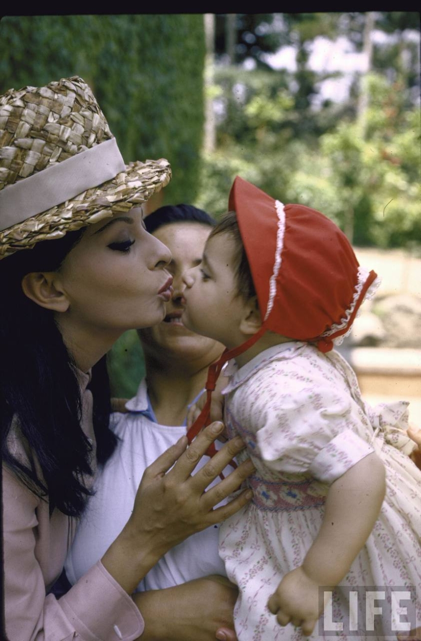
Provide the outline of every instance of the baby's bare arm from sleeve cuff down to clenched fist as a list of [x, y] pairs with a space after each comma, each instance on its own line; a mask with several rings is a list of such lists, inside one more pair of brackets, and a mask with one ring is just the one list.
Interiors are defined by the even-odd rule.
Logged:
[[320, 615], [318, 588], [333, 588], [347, 574], [374, 528], [384, 491], [384, 466], [375, 453], [332, 483], [322, 526], [302, 566], [288, 572], [269, 599], [279, 624], [292, 622], [311, 633]]

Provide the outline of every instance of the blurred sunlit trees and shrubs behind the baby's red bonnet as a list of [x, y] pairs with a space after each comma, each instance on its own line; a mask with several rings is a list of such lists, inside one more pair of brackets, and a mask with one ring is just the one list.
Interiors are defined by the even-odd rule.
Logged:
[[[236, 19], [241, 64], [226, 64], [224, 34], [217, 31], [217, 149], [206, 154], [198, 206], [216, 215], [226, 210], [240, 174], [285, 202], [326, 213], [356, 245], [419, 246], [419, 46], [404, 37], [406, 29], [419, 31], [419, 15], [374, 14], [368, 72], [354, 71], [348, 96], [338, 102], [318, 99], [322, 83], [341, 73], [310, 69], [311, 49], [324, 36], [346, 37], [349, 51], [363, 51], [366, 13]], [[250, 33], [270, 33], [272, 40], [253, 41]], [[240, 47], [244, 38], [254, 48]], [[285, 45], [295, 47], [295, 71], [274, 71], [265, 56], [271, 46]]]

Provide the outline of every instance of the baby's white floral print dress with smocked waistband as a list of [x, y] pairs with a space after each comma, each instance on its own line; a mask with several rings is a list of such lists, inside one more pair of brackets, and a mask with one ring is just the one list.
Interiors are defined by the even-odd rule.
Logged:
[[[350, 612], [354, 622], [361, 614], [352, 612], [350, 587], [415, 588], [411, 603], [419, 626], [421, 472], [408, 457], [408, 403], [370, 408], [340, 354], [322, 354], [303, 342], [271, 347], [238, 370], [229, 362], [226, 375], [231, 376], [224, 390], [227, 431], [229, 437], [242, 435], [256, 466], [249, 479], [252, 503], [220, 529], [220, 556], [240, 590], [235, 607], [238, 640], [304, 638], [292, 624], [277, 624], [267, 609], [268, 598], [284, 574], [302, 564], [320, 529], [329, 485], [373, 451], [386, 468], [381, 513], [334, 591], [330, 608], [338, 629], [326, 632], [322, 615], [311, 639], [366, 638], [364, 631], [360, 636], [347, 632]], [[245, 456], [244, 451], [238, 458]], [[390, 592], [385, 595], [390, 606]], [[394, 629], [406, 621], [402, 612], [393, 619]], [[396, 639], [397, 633], [390, 636], [387, 617], [375, 618], [376, 628], [367, 638]], [[364, 625], [361, 616], [357, 620]]]

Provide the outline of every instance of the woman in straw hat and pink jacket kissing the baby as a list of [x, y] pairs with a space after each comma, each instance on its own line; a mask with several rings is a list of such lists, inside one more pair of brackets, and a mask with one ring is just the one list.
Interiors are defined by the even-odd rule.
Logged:
[[138, 582], [171, 547], [249, 499], [213, 510], [249, 465], [204, 493], [240, 442], [191, 476], [222, 425], [187, 451], [180, 439], [149, 466], [101, 560], [60, 599], [48, 593], [96, 465], [115, 446], [103, 356], [126, 329], [160, 322], [171, 296], [170, 253], [135, 207], [167, 184], [169, 165], [124, 165], [77, 77], [7, 92], [0, 141], [5, 636], [144, 641], [148, 617], [153, 627], [159, 612], [163, 625], [174, 602], [132, 599]]

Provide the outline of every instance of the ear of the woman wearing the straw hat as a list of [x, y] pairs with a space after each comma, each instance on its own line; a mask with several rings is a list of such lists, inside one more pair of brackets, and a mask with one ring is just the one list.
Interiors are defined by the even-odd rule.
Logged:
[[69, 300], [56, 272], [31, 272], [22, 278], [22, 290], [37, 305], [53, 312], [67, 312]]

